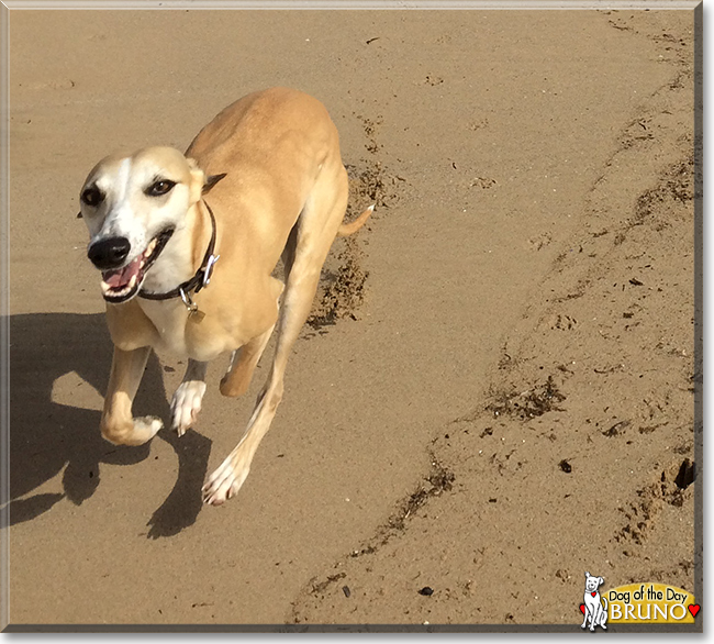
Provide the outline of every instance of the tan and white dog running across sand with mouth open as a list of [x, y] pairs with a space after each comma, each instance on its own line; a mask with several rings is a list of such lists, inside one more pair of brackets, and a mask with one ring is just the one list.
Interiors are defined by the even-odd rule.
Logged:
[[[102, 270], [114, 343], [101, 419], [108, 441], [140, 445], [161, 428], [159, 419], [132, 414], [152, 347], [188, 357], [171, 401], [181, 435], [201, 409], [208, 362], [233, 352], [221, 393], [241, 396], [277, 324], [272, 367], [248, 428], [208, 478], [203, 500], [220, 504], [238, 491], [282, 398], [288, 356], [332, 242], [358, 230], [373, 209], [342, 224], [347, 193], [325, 108], [283, 88], [227, 107], [186, 156], [149, 147], [91, 170], [80, 215], [88, 256]], [[285, 285], [271, 277], [280, 257]]]

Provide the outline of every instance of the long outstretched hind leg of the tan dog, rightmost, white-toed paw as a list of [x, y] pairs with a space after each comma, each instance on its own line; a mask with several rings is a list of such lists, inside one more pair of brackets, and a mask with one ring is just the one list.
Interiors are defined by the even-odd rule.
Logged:
[[[342, 180], [342, 175], [335, 180]], [[270, 429], [282, 399], [283, 376], [290, 351], [310, 314], [322, 265], [345, 213], [346, 175], [337, 191], [327, 191], [326, 197], [323, 192], [322, 201], [323, 203], [319, 199], [310, 200], [300, 215], [294, 257], [287, 263], [290, 264], [287, 266], [289, 274], [270, 375], [258, 396], [243, 438], [203, 486], [203, 500], [207, 503], [220, 506], [241, 489], [250, 470], [255, 452]]]

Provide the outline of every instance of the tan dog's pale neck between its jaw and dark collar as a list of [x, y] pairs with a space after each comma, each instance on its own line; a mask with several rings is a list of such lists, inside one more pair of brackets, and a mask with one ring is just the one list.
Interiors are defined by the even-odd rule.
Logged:
[[143, 290], [164, 293], [191, 279], [201, 267], [211, 234], [211, 218], [201, 200], [189, 208], [183, 224], [147, 273]]

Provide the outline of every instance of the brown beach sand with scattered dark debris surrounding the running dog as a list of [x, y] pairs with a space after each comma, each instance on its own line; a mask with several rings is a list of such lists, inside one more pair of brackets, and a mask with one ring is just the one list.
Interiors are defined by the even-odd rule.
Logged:
[[[693, 10], [13, 11], [10, 34], [11, 624], [579, 631], [584, 570], [695, 590]], [[180, 440], [104, 443], [77, 195], [276, 85], [327, 106], [378, 207], [333, 246], [246, 485], [202, 508], [265, 366], [236, 402], [213, 364]], [[167, 419], [183, 368], [153, 357], [136, 413]]]

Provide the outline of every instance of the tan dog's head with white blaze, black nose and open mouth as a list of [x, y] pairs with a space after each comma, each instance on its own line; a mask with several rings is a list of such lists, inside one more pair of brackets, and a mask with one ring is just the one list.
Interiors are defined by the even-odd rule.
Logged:
[[102, 271], [108, 302], [132, 299], [189, 208], [201, 199], [204, 175], [172, 147], [113, 155], [89, 173], [80, 215], [89, 229], [88, 257]]

